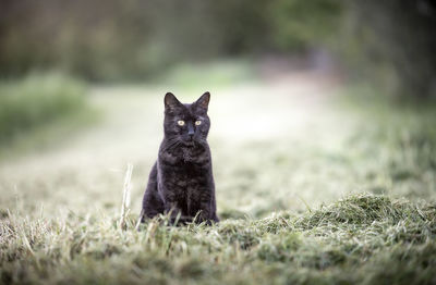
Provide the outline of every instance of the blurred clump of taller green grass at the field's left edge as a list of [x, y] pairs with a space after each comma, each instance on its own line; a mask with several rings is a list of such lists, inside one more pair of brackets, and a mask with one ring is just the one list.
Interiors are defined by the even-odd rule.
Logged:
[[65, 136], [92, 119], [85, 84], [65, 75], [31, 74], [0, 82], [0, 154]]

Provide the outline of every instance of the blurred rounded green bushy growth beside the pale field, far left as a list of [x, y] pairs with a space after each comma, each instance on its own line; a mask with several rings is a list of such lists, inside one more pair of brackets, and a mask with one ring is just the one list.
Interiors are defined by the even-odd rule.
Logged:
[[81, 82], [59, 75], [29, 75], [0, 83], [0, 144], [85, 108]]

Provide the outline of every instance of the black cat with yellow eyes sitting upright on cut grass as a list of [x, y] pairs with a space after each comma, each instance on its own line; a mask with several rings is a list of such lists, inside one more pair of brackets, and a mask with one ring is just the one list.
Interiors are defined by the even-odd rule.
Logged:
[[[215, 183], [207, 134], [210, 94], [182, 104], [171, 92], [165, 96], [164, 140], [148, 177], [143, 219], [170, 213], [171, 222], [218, 222]], [[177, 220], [178, 219], [178, 220]]]

